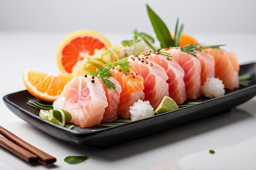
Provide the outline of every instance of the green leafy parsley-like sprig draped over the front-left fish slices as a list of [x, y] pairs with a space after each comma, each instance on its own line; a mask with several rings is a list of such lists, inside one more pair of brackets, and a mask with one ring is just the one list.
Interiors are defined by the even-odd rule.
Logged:
[[116, 89], [115, 83], [109, 80], [110, 77], [113, 77], [110, 73], [110, 69], [116, 66], [120, 66], [123, 73], [130, 71], [130, 65], [128, 59], [119, 60], [117, 62], [111, 62], [103, 66], [99, 66], [96, 71], [89, 71], [89, 75], [99, 77], [101, 81], [105, 84], [107, 89]]

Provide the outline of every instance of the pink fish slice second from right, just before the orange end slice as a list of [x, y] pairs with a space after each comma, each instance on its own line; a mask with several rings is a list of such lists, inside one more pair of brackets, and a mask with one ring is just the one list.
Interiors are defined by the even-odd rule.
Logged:
[[215, 76], [215, 60], [212, 55], [202, 51], [195, 51], [196, 57], [201, 63], [201, 86], [204, 85], [207, 78]]

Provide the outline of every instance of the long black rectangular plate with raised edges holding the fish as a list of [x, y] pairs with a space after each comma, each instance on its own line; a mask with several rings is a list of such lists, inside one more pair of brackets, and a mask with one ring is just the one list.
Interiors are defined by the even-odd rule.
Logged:
[[39, 109], [26, 104], [27, 98], [42, 102], [26, 90], [5, 95], [3, 100], [15, 115], [49, 135], [74, 145], [108, 148], [134, 141], [189, 121], [228, 112], [231, 108], [252, 99], [256, 95], [256, 63], [240, 66], [239, 75], [247, 73], [252, 75], [247, 87], [241, 86], [234, 90], [226, 90], [224, 96], [213, 99], [201, 96], [196, 100], [186, 101], [200, 101], [199, 104], [114, 127], [92, 126], [80, 128], [75, 126], [70, 130], [57, 126], [39, 117]]

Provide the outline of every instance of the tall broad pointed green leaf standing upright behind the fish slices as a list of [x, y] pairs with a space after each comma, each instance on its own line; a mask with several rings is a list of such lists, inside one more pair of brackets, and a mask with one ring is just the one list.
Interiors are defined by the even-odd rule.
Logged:
[[161, 48], [169, 48], [170, 46], [174, 46], [174, 41], [171, 38], [171, 33], [168, 30], [167, 26], [164, 24], [161, 18], [159, 18], [158, 15], [152, 9], [150, 9], [148, 5], [147, 9], [148, 16], [150, 18], [157, 39], [161, 44]]

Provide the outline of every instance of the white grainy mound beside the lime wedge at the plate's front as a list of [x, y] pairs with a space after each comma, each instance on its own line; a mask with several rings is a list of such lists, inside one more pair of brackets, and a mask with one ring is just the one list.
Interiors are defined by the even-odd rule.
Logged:
[[134, 102], [133, 106], [130, 106], [129, 112], [132, 121], [152, 117], [155, 114], [154, 108], [150, 103], [148, 101], [143, 102], [141, 99], [138, 99], [138, 102]]

